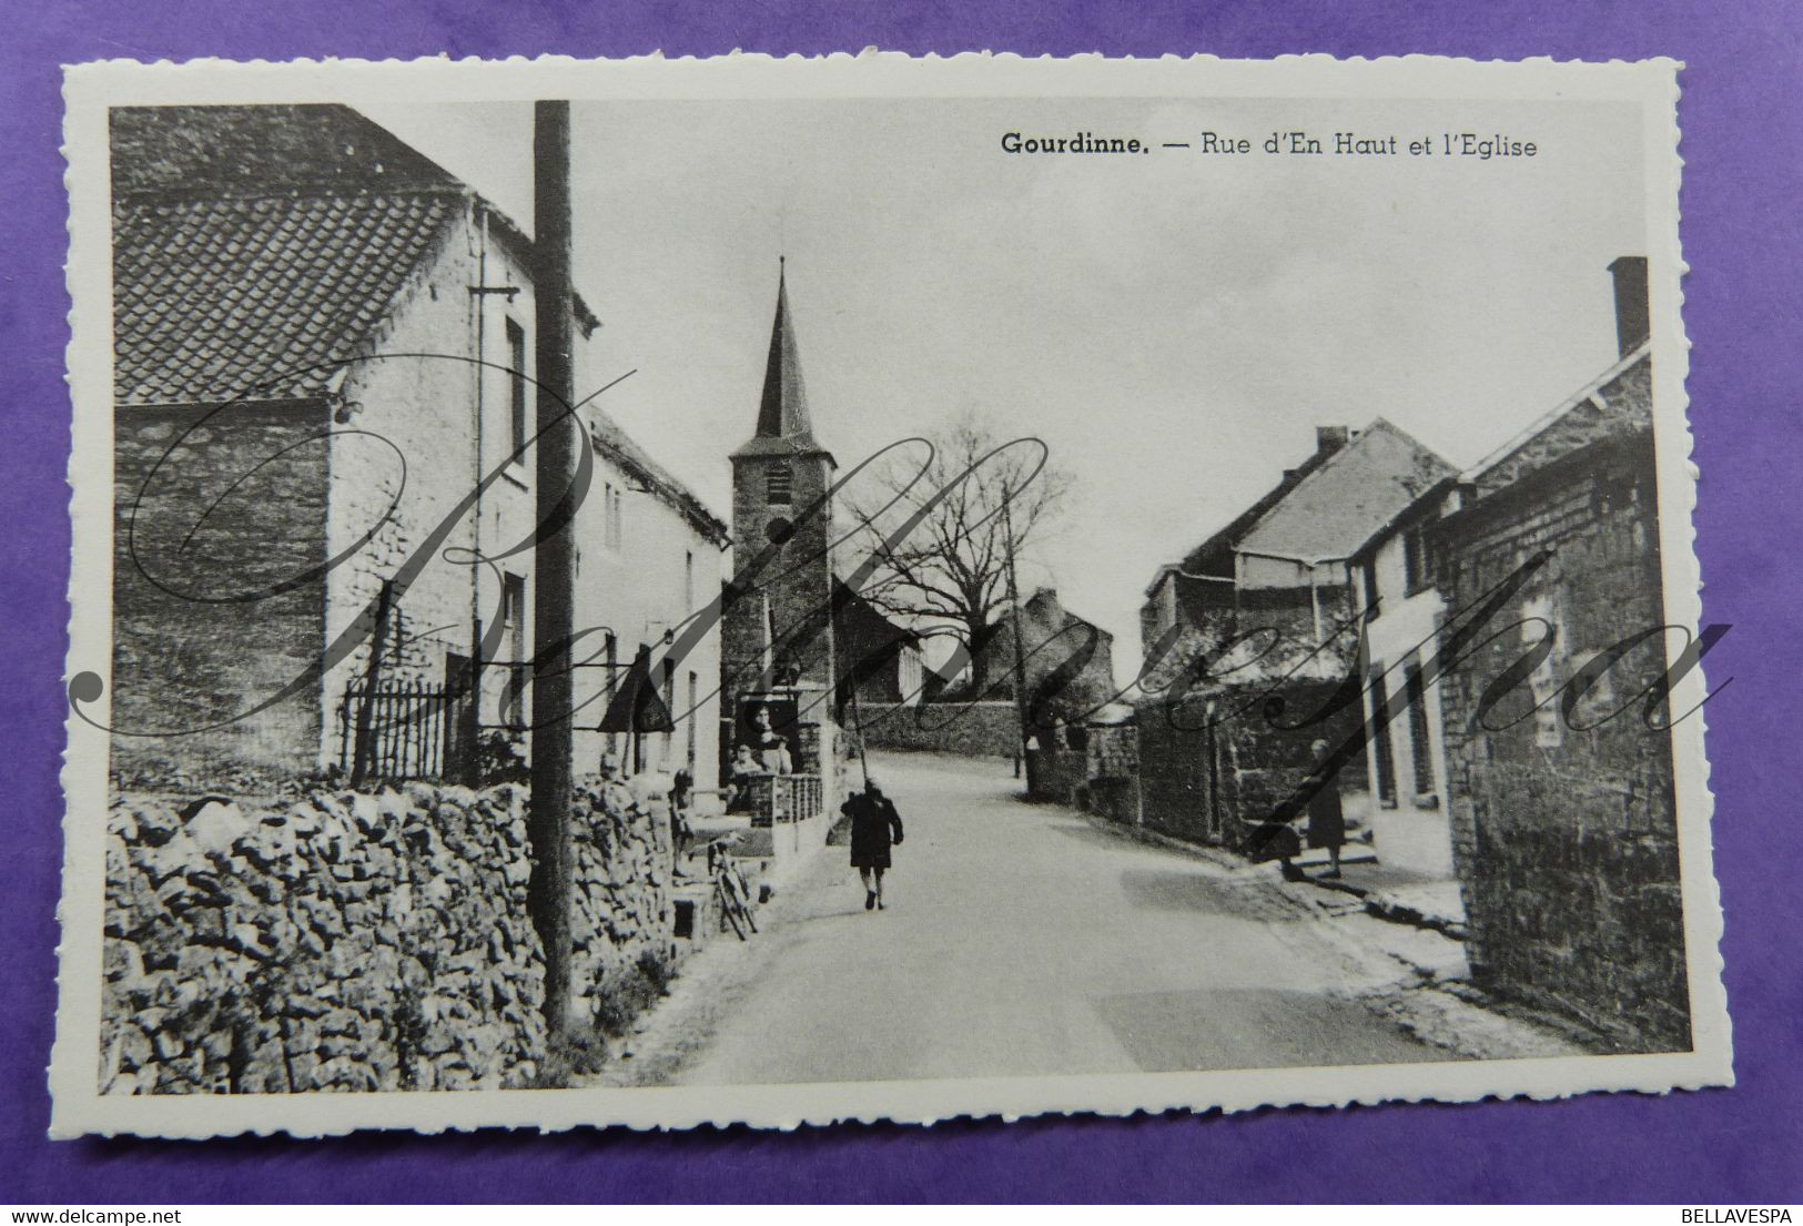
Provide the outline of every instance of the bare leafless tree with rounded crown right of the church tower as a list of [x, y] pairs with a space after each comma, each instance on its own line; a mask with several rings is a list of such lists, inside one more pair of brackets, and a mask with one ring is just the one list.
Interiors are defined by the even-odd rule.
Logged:
[[898, 447], [851, 492], [855, 543], [874, 564], [860, 591], [916, 629], [956, 635], [970, 653], [970, 691], [983, 694], [993, 671], [984, 647], [1008, 615], [1010, 548], [1031, 557], [1075, 478], [1039, 438], [1001, 436], [974, 411], [927, 442], [930, 458]]

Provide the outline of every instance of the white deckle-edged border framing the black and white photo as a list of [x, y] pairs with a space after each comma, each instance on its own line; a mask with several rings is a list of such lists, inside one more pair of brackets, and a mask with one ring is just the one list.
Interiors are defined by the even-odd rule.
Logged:
[[[1652, 348], [1659, 521], [1668, 622], [1700, 626], [1700, 572], [1691, 512], [1697, 474], [1686, 420], [1688, 343], [1680, 317], [1677, 69], [1644, 63], [1475, 63], [1444, 58], [1277, 61], [1212, 58], [1022, 59], [961, 54], [912, 59], [865, 52], [820, 59], [728, 56], [627, 61], [413, 63], [191, 61], [96, 63], [67, 72], [74, 402], [74, 557], [69, 674], [106, 669], [112, 658], [112, 263], [108, 108], [157, 103], [339, 101], [406, 96], [480, 99], [730, 99], [730, 97], [1349, 97], [1349, 99], [1590, 99], [1625, 101], [1644, 115], [1644, 204], [1650, 233]], [[1527, 206], [1531, 207], [1531, 204]], [[1673, 709], [1706, 696], [1700, 669], [1688, 672]], [[106, 707], [99, 705], [103, 719]], [[1596, 1055], [1540, 1060], [1460, 1060], [1356, 1067], [1278, 1067], [1130, 1076], [1048, 1076], [806, 1085], [550, 1089], [462, 1093], [151, 1094], [103, 1096], [97, 1082], [103, 983], [105, 813], [108, 737], [69, 719], [58, 1038], [50, 1064], [54, 1136], [141, 1134], [206, 1138], [285, 1130], [296, 1136], [355, 1129], [436, 1132], [476, 1127], [626, 1125], [687, 1129], [748, 1123], [793, 1129], [840, 1120], [932, 1123], [948, 1118], [1020, 1118], [1048, 1112], [1246, 1111], [1268, 1105], [1347, 1105], [1396, 1100], [1473, 1102], [1491, 1096], [1558, 1098], [1587, 1091], [1666, 1093], [1733, 1084], [1727, 1001], [1718, 941], [1722, 910], [1711, 864], [1713, 799], [1704, 721], [1675, 736], [1682, 909], [1695, 1049], [1673, 1055]]]

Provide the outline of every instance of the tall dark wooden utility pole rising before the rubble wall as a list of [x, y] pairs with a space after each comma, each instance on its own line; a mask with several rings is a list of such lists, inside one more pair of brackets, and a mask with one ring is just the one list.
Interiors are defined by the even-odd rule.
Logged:
[[[532, 566], [532, 925], [545, 947], [545, 1022], [570, 1026], [570, 892], [573, 851], [570, 635], [575, 629], [575, 532], [563, 503], [575, 481], [581, 424], [572, 348], [570, 103], [534, 106], [532, 186], [537, 357], [537, 514]], [[546, 525], [555, 525], [546, 528]]]

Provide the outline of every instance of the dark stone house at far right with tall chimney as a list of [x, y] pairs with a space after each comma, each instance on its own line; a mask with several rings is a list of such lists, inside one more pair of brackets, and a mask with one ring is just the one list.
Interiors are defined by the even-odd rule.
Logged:
[[1621, 359], [1466, 472], [1432, 530], [1451, 608], [1507, 597], [1442, 645], [1448, 797], [1477, 981], [1617, 1049], [1677, 1051], [1671, 734], [1643, 719], [1668, 669], [1644, 261], [1614, 270]]

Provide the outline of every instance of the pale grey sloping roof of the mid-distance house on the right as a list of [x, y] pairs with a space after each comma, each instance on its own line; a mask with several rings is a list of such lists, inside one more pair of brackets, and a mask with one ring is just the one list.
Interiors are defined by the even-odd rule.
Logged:
[[1450, 463], [1377, 418], [1302, 478], [1235, 548], [1311, 563], [1352, 557], [1377, 528], [1450, 476]]

